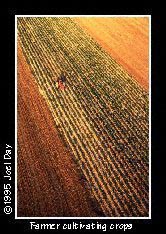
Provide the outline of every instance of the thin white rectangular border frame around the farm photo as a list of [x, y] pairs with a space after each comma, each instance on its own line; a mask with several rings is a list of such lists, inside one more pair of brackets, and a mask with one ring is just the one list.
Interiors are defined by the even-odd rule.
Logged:
[[[149, 18], [149, 216], [148, 217], [18, 217], [17, 216], [17, 18], [19, 17], [148, 17]], [[15, 219], [151, 219], [151, 15], [15, 15]]]

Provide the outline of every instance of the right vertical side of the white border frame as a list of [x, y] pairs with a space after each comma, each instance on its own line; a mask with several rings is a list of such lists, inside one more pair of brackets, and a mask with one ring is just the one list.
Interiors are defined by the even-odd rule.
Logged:
[[151, 185], [151, 15], [149, 16], [149, 218], [151, 219], [151, 202], [152, 202], [152, 195], [151, 195], [151, 190], [152, 190], [152, 185]]

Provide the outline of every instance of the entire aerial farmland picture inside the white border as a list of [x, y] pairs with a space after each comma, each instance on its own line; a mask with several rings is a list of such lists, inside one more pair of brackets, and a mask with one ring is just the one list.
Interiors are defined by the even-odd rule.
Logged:
[[150, 17], [16, 16], [17, 217], [150, 216]]

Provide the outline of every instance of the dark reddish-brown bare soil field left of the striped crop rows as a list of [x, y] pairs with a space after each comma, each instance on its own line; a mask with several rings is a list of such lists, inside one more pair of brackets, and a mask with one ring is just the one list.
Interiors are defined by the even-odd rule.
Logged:
[[96, 216], [19, 44], [17, 88], [18, 216]]

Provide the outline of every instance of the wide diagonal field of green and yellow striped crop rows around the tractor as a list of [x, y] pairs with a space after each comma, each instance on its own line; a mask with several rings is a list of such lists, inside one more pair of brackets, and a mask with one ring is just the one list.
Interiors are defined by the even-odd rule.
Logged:
[[[19, 18], [18, 36], [55, 129], [70, 151], [66, 157], [78, 166], [100, 214], [147, 216], [148, 93], [71, 18]], [[64, 92], [55, 86], [62, 71]], [[43, 148], [43, 160], [45, 154]]]

